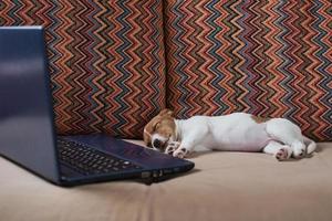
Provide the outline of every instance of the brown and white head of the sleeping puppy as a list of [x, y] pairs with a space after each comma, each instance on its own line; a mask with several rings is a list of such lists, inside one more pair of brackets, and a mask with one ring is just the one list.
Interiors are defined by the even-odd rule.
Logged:
[[144, 141], [153, 149], [164, 151], [169, 141], [176, 137], [176, 125], [173, 112], [163, 109], [144, 127]]

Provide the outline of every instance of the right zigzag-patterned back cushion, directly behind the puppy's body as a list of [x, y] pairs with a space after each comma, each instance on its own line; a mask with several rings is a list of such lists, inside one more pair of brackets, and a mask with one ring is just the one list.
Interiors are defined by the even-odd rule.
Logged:
[[166, 0], [167, 105], [177, 117], [286, 117], [332, 140], [331, 0]]

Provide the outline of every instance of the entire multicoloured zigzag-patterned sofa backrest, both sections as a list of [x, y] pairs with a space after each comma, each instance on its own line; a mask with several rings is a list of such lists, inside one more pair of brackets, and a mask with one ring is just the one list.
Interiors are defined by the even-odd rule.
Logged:
[[332, 140], [331, 7], [2, 0], [0, 25], [45, 27], [60, 134], [142, 138], [167, 105], [178, 118], [286, 117], [307, 136]]

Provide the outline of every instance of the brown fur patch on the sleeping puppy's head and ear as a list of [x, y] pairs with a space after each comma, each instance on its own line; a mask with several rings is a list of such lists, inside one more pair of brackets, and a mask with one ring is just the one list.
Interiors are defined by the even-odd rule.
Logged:
[[164, 137], [175, 135], [175, 122], [170, 109], [163, 109], [157, 116], [152, 118], [144, 127], [143, 139], [147, 146], [151, 146], [152, 135], [157, 133]]

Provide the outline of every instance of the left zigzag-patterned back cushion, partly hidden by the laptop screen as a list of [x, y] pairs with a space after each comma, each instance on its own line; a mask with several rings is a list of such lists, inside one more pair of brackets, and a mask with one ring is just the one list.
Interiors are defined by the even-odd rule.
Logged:
[[1, 0], [0, 25], [45, 27], [60, 134], [142, 137], [165, 107], [162, 0]]

